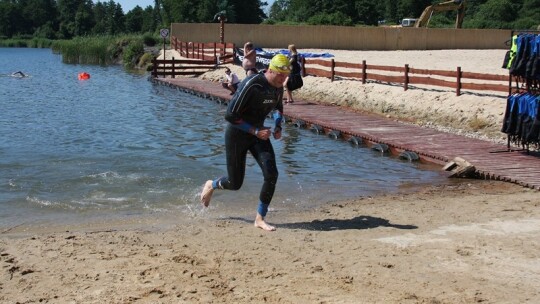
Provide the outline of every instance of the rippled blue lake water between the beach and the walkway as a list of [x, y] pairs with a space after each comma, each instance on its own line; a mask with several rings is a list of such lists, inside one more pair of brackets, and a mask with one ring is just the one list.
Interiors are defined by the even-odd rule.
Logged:
[[[19, 70], [30, 76], [10, 76]], [[78, 80], [80, 72], [91, 78]], [[225, 175], [225, 107], [154, 85], [147, 74], [63, 64], [49, 49], [0, 48], [0, 106], [0, 231], [147, 216], [180, 221], [201, 212], [204, 181]], [[273, 143], [274, 212], [450, 182], [440, 167], [292, 125]], [[249, 158], [243, 188], [216, 192], [205, 212], [254, 214], [261, 182]]]

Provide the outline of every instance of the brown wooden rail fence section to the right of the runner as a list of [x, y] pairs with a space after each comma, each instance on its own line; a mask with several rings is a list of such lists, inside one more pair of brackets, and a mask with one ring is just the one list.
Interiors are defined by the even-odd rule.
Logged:
[[[321, 68], [324, 67], [324, 68]], [[430, 86], [440, 86], [454, 88], [456, 95], [461, 95], [461, 90], [486, 90], [497, 92], [508, 92], [508, 83], [511, 82], [509, 75], [495, 75], [464, 72], [460, 67], [456, 71], [428, 70], [410, 68], [408, 64], [403, 67], [368, 65], [365, 60], [362, 63], [338, 62], [334, 59], [312, 59], [302, 60], [303, 76], [312, 75], [330, 78], [334, 81], [336, 77], [359, 79], [365, 84], [369, 81], [380, 81], [387, 83], [398, 83], [406, 91], [411, 84], [423, 84]], [[377, 71], [383, 71], [378, 73]], [[476, 80], [467, 81], [467, 80]], [[485, 82], [489, 81], [489, 82]]]

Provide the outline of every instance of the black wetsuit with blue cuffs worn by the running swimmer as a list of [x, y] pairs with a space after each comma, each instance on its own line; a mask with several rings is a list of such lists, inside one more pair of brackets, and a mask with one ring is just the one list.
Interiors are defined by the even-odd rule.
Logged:
[[271, 86], [263, 73], [250, 76], [240, 83], [225, 115], [229, 122], [225, 131], [228, 177], [216, 180], [217, 188], [240, 189], [244, 182], [246, 156], [249, 151], [257, 160], [264, 176], [259, 200], [270, 204], [278, 178], [274, 148], [270, 139], [259, 139], [254, 133], [264, 127], [266, 117], [273, 110], [276, 110], [275, 126], [281, 128], [282, 99], [283, 88]]

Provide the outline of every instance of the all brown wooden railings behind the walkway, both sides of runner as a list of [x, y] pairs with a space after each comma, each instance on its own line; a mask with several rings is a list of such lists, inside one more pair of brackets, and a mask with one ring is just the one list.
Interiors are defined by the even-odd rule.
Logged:
[[[171, 48], [183, 57], [192, 60], [157, 60], [152, 75], [171, 76], [199, 75], [204, 70], [215, 69], [220, 64], [234, 64], [235, 45], [233, 43], [200, 43], [179, 41], [171, 37]], [[210, 65], [214, 65], [210, 67]], [[510, 75], [464, 72], [460, 67], [455, 71], [416, 69], [405, 64], [401, 67], [368, 65], [335, 61], [334, 59], [302, 58], [303, 76], [311, 75], [330, 78], [357, 79], [365, 84], [378, 81], [399, 84], [406, 91], [410, 85], [428, 85], [455, 89], [459, 96], [462, 90], [496, 91], [509, 93], [512, 84]], [[157, 76], [154, 76], [157, 77]]]

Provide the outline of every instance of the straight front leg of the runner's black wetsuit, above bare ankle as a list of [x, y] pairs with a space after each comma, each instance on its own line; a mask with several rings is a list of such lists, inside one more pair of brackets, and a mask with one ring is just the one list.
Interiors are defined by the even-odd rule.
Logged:
[[264, 177], [259, 200], [264, 204], [270, 204], [270, 201], [274, 196], [274, 191], [276, 190], [278, 178], [274, 148], [272, 147], [270, 140], [257, 139], [257, 142], [249, 149], [249, 151], [255, 160], [257, 160]]

